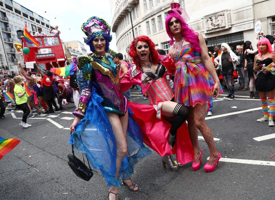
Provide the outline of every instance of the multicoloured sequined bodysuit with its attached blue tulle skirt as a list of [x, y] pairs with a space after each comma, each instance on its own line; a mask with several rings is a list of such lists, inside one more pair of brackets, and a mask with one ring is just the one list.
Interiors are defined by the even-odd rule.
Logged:
[[117, 145], [106, 112], [125, 115], [127, 99], [120, 87], [119, 69], [112, 58], [107, 56], [102, 60], [91, 56], [79, 59], [84, 87], [78, 109], [85, 113], [85, 117], [75, 127], [76, 131], [71, 134], [69, 142], [74, 144], [76, 152], [86, 154], [94, 169], [101, 170], [108, 186], [120, 187], [118, 180], [130, 177], [134, 165], [151, 152], [144, 147], [140, 128], [129, 111], [127, 155], [121, 162], [118, 179], [115, 177]]

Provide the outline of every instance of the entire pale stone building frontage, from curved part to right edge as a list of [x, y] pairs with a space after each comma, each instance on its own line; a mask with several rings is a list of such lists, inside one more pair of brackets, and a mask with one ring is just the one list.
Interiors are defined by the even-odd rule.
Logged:
[[[249, 40], [256, 47], [254, 24], [257, 20], [262, 23], [264, 35], [273, 35], [275, 30], [275, 0], [110, 0], [117, 52], [127, 58], [126, 47], [133, 35], [147, 35], [168, 53], [170, 38], [166, 34], [165, 19], [174, 2], [185, 8], [190, 17], [189, 26], [208, 39], [211, 51], [223, 42], [235, 49], [236, 45]], [[132, 8], [131, 16], [128, 5]]]

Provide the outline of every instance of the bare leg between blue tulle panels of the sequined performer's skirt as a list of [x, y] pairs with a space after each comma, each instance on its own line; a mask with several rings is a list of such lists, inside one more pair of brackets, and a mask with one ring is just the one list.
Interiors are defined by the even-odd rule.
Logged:
[[[127, 141], [126, 141], [126, 131], [128, 124], [128, 112], [123, 117], [119, 117], [116, 113], [106, 112], [109, 121], [112, 125], [112, 129], [115, 135], [115, 141], [117, 145], [117, 159], [116, 159], [116, 168], [117, 171], [115, 176], [118, 177], [119, 169], [121, 166], [121, 161], [127, 153]], [[117, 187], [111, 187], [110, 191], [117, 193]], [[115, 198], [114, 194], [109, 195], [109, 199]]]

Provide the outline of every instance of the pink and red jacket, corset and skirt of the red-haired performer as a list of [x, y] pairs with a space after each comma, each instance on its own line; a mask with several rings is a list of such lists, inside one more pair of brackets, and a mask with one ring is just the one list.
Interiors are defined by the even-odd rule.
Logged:
[[176, 154], [178, 163], [186, 164], [194, 159], [194, 153], [185, 122], [177, 130], [176, 143], [172, 150], [167, 142], [171, 123], [161, 115], [161, 108], [164, 101], [170, 101], [174, 97], [166, 76], [174, 73], [175, 66], [168, 56], [160, 57], [160, 64], [165, 67], [165, 73], [161, 79], [156, 81], [152, 79], [156, 74], [150, 77], [136, 65], [132, 65], [131, 70], [121, 79], [121, 87], [126, 91], [133, 84], [141, 85], [142, 92], [148, 92], [150, 105], [128, 103], [129, 110], [133, 112], [133, 118], [140, 126], [144, 143], [161, 156]]

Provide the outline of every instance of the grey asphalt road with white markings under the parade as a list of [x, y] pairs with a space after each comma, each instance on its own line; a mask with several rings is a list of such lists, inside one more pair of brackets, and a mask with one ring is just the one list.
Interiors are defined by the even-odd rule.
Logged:
[[[149, 104], [137, 90], [131, 94], [134, 102]], [[269, 157], [275, 153], [275, 136], [262, 141], [254, 138], [274, 134], [275, 127], [256, 121], [263, 116], [260, 99], [249, 98], [247, 91], [235, 95], [233, 101], [220, 96], [213, 103], [213, 115], [206, 115], [222, 156], [214, 172], [203, 169], [209, 157], [203, 139], [199, 140], [203, 159], [198, 171], [192, 170], [192, 163], [176, 172], [164, 169], [160, 155], [152, 151], [137, 163], [131, 177], [139, 191], [122, 186], [119, 199], [274, 199], [275, 156]], [[108, 199], [109, 189], [100, 172], [87, 182], [76, 177], [67, 164], [71, 146], [66, 128], [73, 121], [70, 113], [75, 107], [69, 104], [64, 108], [52, 117], [28, 119], [33, 125], [28, 129], [19, 126], [16, 118], [22, 113], [16, 111], [0, 120], [0, 136], [21, 141], [0, 160], [0, 199]]]

